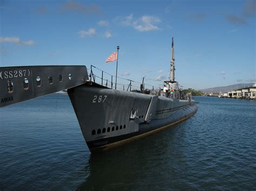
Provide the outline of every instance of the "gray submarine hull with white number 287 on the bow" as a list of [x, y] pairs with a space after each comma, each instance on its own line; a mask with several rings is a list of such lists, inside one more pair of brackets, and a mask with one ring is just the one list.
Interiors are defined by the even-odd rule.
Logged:
[[194, 100], [114, 90], [93, 83], [70, 88], [68, 94], [91, 152], [156, 133], [197, 112]]

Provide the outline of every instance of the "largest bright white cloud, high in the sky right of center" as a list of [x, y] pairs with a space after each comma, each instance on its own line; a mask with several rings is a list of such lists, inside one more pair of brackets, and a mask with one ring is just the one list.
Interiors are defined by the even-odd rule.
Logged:
[[133, 22], [133, 27], [140, 32], [159, 30], [156, 24], [160, 22], [161, 20], [158, 17], [142, 16]]

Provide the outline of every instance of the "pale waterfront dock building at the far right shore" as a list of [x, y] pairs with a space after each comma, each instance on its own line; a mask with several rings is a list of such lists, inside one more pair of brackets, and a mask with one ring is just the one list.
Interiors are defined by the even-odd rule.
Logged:
[[227, 97], [254, 100], [256, 99], [256, 83], [252, 87], [228, 91]]

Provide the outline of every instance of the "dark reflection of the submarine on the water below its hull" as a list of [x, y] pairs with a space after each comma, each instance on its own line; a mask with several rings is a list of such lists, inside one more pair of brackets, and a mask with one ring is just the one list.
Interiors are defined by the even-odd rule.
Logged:
[[[157, 179], [158, 173], [166, 171], [170, 154], [181, 154], [177, 152], [180, 144], [173, 143], [182, 141], [184, 130], [175, 128], [177, 126], [103, 153], [91, 154], [89, 166], [84, 169], [89, 176], [77, 189], [123, 189], [124, 186], [125, 189], [144, 189], [145, 183], [141, 184], [144, 181], [151, 185], [150, 181]], [[172, 166], [170, 168], [173, 171]], [[157, 188], [153, 181], [152, 186]]]

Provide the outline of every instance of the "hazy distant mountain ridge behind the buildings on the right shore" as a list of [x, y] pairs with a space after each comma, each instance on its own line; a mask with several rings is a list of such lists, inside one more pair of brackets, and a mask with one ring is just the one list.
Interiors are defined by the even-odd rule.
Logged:
[[207, 88], [207, 89], [201, 89], [201, 91], [203, 93], [215, 93], [215, 94], [219, 94], [220, 91], [222, 93], [227, 93], [227, 91], [231, 91], [231, 90], [237, 90], [237, 89], [241, 89], [244, 87], [252, 87], [254, 83], [238, 83], [238, 84], [233, 84], [230, 86], [223, 86], [223, 87], [214, 87], [214, 88]]

